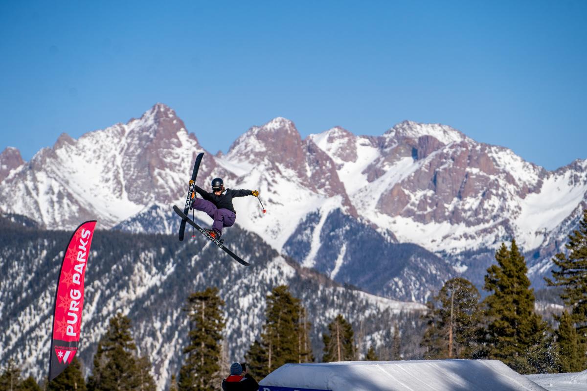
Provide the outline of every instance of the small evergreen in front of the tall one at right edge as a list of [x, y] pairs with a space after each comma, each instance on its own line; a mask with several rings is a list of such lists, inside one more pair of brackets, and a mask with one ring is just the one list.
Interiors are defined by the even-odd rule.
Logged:
[[579, 348], [579, 336], [571, 315], [564, 311], [558, 318], [558, 330], [556, 342], [559, 346], [559, 360], [561, 372], [581, 372], [581, 352]]

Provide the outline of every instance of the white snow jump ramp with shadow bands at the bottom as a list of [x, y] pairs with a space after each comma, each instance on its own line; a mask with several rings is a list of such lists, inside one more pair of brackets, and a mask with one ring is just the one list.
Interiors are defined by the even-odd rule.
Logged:
[[498, 360], [348, 361], [286, 364], [259, 391], [538, 391]]

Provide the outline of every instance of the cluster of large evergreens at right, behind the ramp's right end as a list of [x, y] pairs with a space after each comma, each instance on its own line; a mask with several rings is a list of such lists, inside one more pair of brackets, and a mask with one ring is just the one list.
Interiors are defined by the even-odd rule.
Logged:
[[559, 286], [565, 309], [551, 328], [534, 311], [534, 289], [515, 240], [495, 253], [480, 294], [464, 278], [447, 281], [429, 302], [424, 358], [498, 359], [519, 373], [587, 369], [587, 211], [556, 254], [549, 286]]

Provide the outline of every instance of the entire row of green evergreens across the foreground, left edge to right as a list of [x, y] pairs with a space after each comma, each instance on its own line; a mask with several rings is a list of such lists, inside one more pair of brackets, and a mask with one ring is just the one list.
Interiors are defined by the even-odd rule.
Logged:
[[[569, 235], [566, 249], [556, 254], [552, 279], [546, 279], [549, 286], [562, 288], [565, 310], [555, 317], [556, 329], [534, 311], [525, 260], [512, 240], [510, 247], [501, 245], [495, 253], [497, 264], [487, 269], [483, 289], [488, 295], [483, 300], [470, 281], [457, 277], [428, 303], [427, 328], [420, 342], [424, 358], [498, 359], [519, 373], [587, 369], [587, 211], [578, 230]], [[184, 311], [190, 323], [188, 345], [170, 390], [218, 389], [230, 366], [222, 336], [224, 301], [217, 288], [207, 288], [191, 294]], [[249, 373], [260, 379], [285, 363], [315, 362], [311, 327], [301, 301], [287, 286], [276, 286], [267, 295], [261, 334], [244, 356]], [[400, 341], [396, 324], [387, 344], [390, 359], [402, 359]], [[355, 331], [342, 314], [329, 323], [322, 342], [323, 362], [361, 358]], [[363, 359], [379, 359], [375, 346], [369, 346]], [[9, 360], [0, 374], [0, 391], [155, 390], [151, 369], [149, 359], [137, 352], [130, 319], [118, 313], [98, 343], [87, 381], [77, 358], [52, 382], [45, 379], [42, 388], [32, 376], [22, 379], [18, 366]]]

